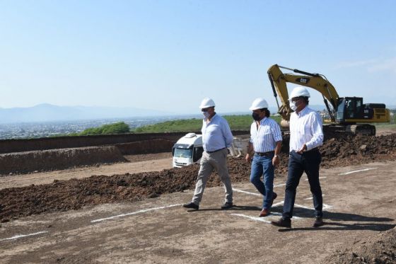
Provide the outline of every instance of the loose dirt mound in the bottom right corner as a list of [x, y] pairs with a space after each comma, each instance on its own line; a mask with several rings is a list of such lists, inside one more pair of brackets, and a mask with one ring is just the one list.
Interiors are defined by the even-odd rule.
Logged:
[[396, 227], [339, 250], [323, 263], [396, 263]]

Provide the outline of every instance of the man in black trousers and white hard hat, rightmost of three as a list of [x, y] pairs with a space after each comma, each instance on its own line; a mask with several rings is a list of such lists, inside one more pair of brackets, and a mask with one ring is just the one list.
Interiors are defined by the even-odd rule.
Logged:
[[322, 118], [308, 108], [310, 93], [304, 87], [296, 87], [291, 92], [290, 108], [290, 154], [289, 171], [286, 180], [284, 212], [281, 219], [271, 222], [274, 226], [291, 228], [294, 201], [300, 178], [305, 172], [315, 207], [314, 227], [323, 225], [322, 190], [319, 183], [319, 166], [322, 156], [318, 147], [323, 143]]

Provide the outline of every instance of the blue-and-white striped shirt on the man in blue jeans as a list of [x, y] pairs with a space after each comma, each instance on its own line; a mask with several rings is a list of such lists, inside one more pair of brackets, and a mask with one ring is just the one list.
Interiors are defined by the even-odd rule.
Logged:
[[274, 151], [276, 142], [282, 141], [281, 128], [272, 118], [264, 117], [257, 128], [256, 122], [250, 126], [250, 143], [255, 152]]

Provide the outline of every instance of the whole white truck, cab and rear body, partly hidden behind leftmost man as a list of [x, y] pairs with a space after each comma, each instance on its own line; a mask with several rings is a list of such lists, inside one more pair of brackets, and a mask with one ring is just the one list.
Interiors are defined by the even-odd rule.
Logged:
[[[234, 137], [233, 144], [229, 148], [233, 157], [243, 156], [248, 147], [249, 137]], [[202, 134], [188, 133], [177, 140], [172, 148], [173, 168], [188, 166], [198, 163], [202, 157]]]

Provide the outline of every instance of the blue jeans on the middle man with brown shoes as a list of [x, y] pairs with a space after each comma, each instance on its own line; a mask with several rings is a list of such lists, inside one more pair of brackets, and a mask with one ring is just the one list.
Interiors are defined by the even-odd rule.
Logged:
[[[269, 209], [272, 206], [272, 196], [274, 189], [274, 166], [272, 165], [274, 154], [269, 156], [259, 156], [255, 154], [252, 160], [252, 171], [250, 173], [250, 182], [255, 185], [256, 189], [264, 197], [262, 200], [262, 209]], [[264, 176], [264, 183], [261, 177]]]

